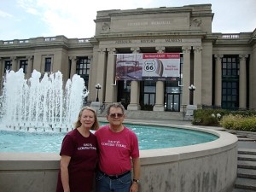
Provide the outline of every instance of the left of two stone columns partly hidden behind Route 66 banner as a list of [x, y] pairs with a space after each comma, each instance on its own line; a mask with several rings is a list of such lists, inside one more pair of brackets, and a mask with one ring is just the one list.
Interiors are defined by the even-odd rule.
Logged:
[[[131, 48], [132, 53], [136, 54], [139, 53], [140, 48]], [[131, 102], [127, 106], [127, 110], [140, 110], [141, 106], [139, 103], [139, 96], [140, 96], [140, 86], [138, 81], [131, 81]]]

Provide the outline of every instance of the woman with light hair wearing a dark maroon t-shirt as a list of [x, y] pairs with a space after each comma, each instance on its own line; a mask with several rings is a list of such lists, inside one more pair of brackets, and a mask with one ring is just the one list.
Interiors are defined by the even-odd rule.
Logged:
[[99, 123], [93, 108], [84, 107], [75, 129], [67, 133], [61, 145], [61, 170], [56, 192], [91, 192], [98, 158], [96, 136]]

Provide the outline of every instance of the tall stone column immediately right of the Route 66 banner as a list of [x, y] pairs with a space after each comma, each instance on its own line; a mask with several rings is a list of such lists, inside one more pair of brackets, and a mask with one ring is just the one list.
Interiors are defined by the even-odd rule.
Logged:
[[183, 47], [183, 92], [182, 105], [189, 104], [189, 85], [190, 85], [190, 51], [191, 47]]

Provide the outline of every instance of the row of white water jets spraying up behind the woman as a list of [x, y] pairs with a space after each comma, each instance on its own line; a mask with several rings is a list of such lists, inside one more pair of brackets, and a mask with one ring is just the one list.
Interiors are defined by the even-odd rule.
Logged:
[[7, 71], [0, 98], [2, 128], [25, 131], [70, 131], [84, 97], [84, 79], [75, 74], [63, 89], [62, 74], [34, 70], [24, 79], [23, 69]]

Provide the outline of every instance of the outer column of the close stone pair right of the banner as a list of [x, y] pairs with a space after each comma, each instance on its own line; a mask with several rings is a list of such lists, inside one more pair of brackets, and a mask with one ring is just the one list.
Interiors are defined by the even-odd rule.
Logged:
[[194, 105], [201, 105], [201, 50], [202, 47], [194, 47]]

